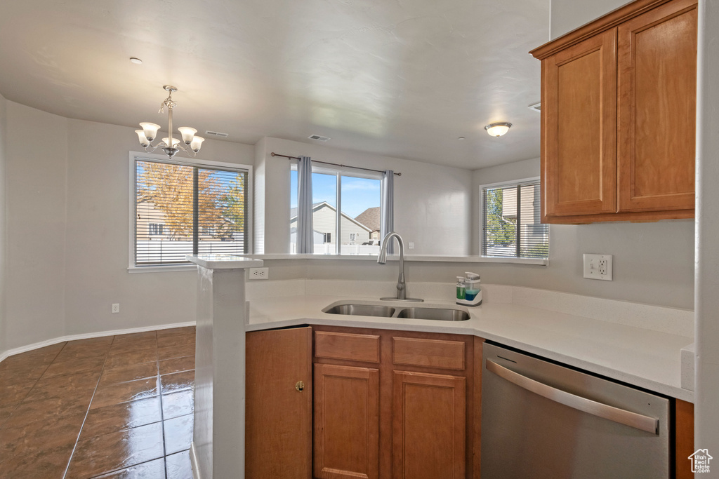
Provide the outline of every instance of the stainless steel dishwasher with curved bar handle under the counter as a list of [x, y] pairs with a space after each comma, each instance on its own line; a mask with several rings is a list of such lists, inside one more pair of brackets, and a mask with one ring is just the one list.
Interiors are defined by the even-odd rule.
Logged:
[[669, 478], [669, 399], [485, 343], [483, 479]]

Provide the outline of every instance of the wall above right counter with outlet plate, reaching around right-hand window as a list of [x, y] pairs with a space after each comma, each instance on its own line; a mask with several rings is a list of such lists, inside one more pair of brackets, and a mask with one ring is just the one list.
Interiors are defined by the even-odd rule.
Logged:
[[[539, 176], [539, 158], [477, 169], [480, 185]], [[473, 241], [479, 244], [477, 215]], [[475, 248], [475, 251], [476, 248]], [[613, 281], [585, 279], [582, 254], [613, 255]], [[482, 279], [541, 289], [693, 309], [694, 220], [549, 226], [549, 266], [482, 264]]]

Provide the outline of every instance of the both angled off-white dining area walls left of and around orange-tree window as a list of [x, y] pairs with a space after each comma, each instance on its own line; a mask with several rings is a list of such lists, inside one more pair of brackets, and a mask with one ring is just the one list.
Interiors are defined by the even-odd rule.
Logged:
[[[195, 271], [127, 272], [134, 129], [8, 101], [7, 134], [5, 350], [195, 320]], [[254, 147], [207, 140], [199, 157], [252, 164]]]

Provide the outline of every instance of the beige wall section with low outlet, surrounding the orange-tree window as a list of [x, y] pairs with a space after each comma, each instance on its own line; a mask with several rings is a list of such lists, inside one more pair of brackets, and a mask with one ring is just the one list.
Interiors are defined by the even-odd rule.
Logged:
[[[129, 160], [134, 130], [70, 120], [67, 334], [195, 320], [194, 271], [128, 274]], [[110, 141], [102, 149], [97, 139]], [[252, 164], [252, 145], [207, 140], [201, 159]], [[91, 200], [88, 201], [88, 198]], [[111, 314], [111, 303], [120, 313]]]

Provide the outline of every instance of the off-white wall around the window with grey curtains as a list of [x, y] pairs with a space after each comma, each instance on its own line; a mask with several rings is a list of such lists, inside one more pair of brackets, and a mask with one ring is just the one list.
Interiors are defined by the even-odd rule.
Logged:
[[262, 175], [265, 182], [265, 253], [286, 253], [289, 248], [290, 162], [271, 157], [275, 152], [401, 172], [395, 177], [395, 231], [405, 243], [414, 243], [412, 254], [470, 254], [472, 175], [467, 169], [269, 137], [255, 147], [255, 177]]

